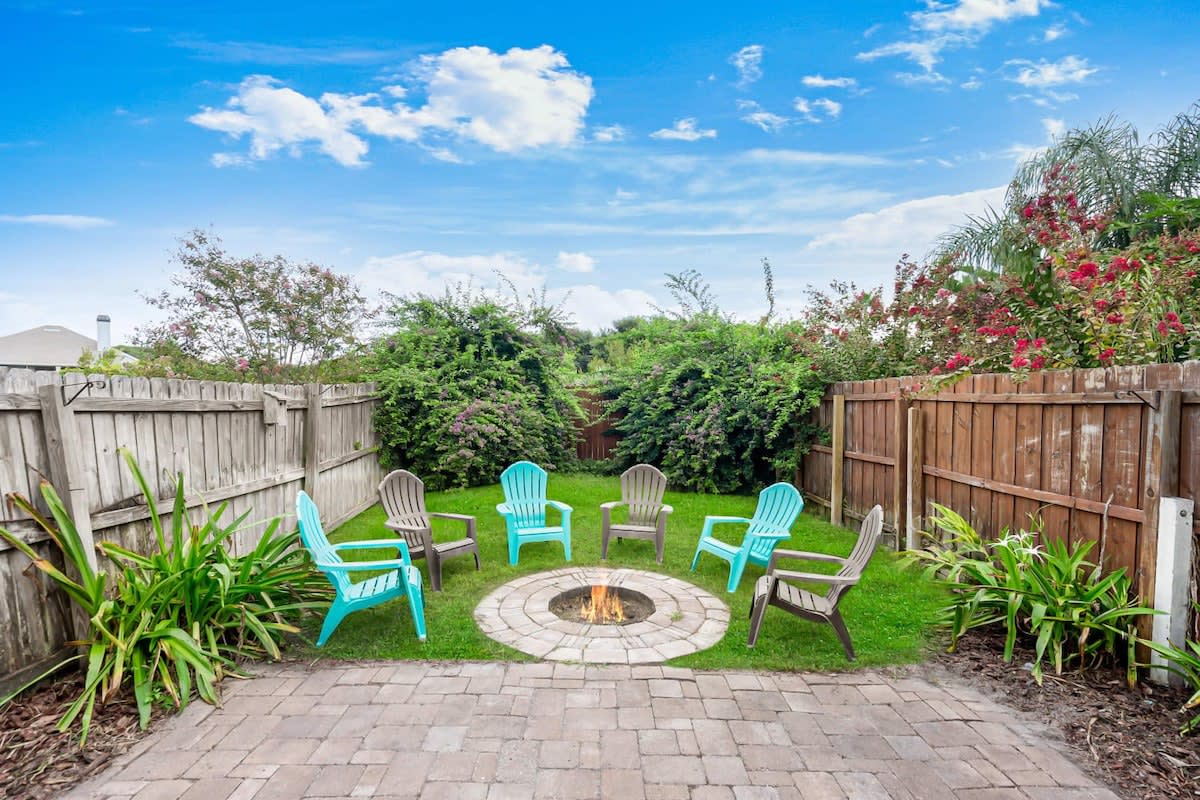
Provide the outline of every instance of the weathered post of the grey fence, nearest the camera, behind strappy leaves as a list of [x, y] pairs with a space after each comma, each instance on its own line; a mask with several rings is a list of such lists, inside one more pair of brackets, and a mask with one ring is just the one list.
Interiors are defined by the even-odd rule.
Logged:
[[[42, 431], [46, 435], [46, 455], [49, 459], [50, 483], [66, 506], [74, 523], [83, 552], [92, 570], [97, 569], [96, 540], [91, 530], [91, 500], [88, 497], [88, 477], [83, 468], [83, 440], [74, 411], [64, 402], [62, 385], [54, 383], [37, 387], [37, 401], [42, 409]], [[91, 632], [88, 615], [78, 606], [71, 606], [71, 624], [77, 639], [86, 639]]]

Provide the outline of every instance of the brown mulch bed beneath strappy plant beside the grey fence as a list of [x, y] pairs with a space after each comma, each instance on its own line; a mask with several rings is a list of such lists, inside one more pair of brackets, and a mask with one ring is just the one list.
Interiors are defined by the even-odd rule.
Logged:
[[78, 727], [59, 733], [55, 723], [82, 684], [78, 674], [50, 679], [0, 706], [0, 798], [43, 800], [65, 793], [145, 735], [132, 702], [97, 708], [84, 748]]

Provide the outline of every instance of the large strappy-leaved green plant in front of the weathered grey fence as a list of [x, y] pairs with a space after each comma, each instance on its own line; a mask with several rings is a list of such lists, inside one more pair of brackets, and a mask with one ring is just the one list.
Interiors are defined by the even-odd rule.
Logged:
[[90, 636], [79, 643], [86, 654], [64, 662], [86, 661], [84, 688], [58, 726], [66, 730], [79, 720], [80, 744], [88, 739], [96, 703], [126, 686], [132, 686], [143, 728], [160, 698], [184, 708], [194, 691], [216, 704], [216, 684], [236, 669], [238, 660], [277, 658], [280, 637], [299, 631], [288, 618], [329, 599], [329, 584], [296, 546], [296, 534], [278, 533], [278, 517], [251, 553], [232, 555], [227, 543], [247, 515], [224, 524], [222, 504], [212, 513], [205, 509], [203, 522], [193, 523], [179, 476], [174, 507], [164, 519], [137, 462], [127, 451], [122, 455], [149, 507], [157, 549], [140, 555], [112, 542], [98, 545], [118, 567], [112, 590], [108, 573], [88, 560], [74, 523], [48, 482], [42, 482], [41, 493], [53, 522], [26, 498], [10, 498], [50, 536], [78, 579], [0, 528], [0, 537], [28, 555], [90, 621]]

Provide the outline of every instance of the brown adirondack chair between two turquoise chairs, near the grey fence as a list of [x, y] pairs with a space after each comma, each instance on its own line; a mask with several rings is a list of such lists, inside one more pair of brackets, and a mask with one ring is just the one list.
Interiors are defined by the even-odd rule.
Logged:
[[[442, 513], [425, 510], [425, 482], [407, 469], [397, 469], [388, 474], [379, 483], [379, 501], [388, 512], [389, 530], [394, 530], [408, 542], [412, 558], [424, 558], [430, 565], [430, 585], [433, 591], [442, 591], [442, 561], [455, 555], [475, 557], [475, 569], [479, 570], [479, 542], [475, 541], [475, 518], [462, 513]], [[452, 542], [433, 540], [433, 528], [430, 522], [438, 519], [458, 519], [467, 524], [467, 537]]]

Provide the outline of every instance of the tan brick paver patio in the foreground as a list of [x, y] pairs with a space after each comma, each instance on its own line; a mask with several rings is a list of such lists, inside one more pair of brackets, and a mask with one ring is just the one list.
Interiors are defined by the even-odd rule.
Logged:
[[272, 667], [65, 796], [1116, 798], [961, 685], [564, 663]]

